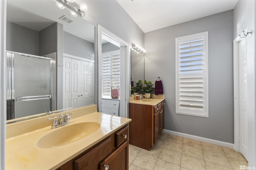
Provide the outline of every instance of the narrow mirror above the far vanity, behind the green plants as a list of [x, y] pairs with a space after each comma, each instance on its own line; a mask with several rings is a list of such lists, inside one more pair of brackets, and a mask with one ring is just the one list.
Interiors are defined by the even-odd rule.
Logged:
[[133, 81], [133, 84], [138, 82], [138, 80], [144, 82], [144, 60], [143, 53], [131, 49], [131, 82]]

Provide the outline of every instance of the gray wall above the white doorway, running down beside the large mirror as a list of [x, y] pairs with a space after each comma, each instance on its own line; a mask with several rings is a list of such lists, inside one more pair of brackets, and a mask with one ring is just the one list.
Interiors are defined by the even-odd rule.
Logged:
[[[95, 25], [95, 44], [98, 43], [98, 24], [130, 44], [144, 47], [144, 32], [116, 0], [84, 0], [88, 5], [85, 19]], [[95, 56], [98, 47], [95, 45]], [[130, 68], [128, 70], [130, 72]], [[95, 57], [95, 103], [98, 104], [98, 57]], [[130, 76], [130, 75], [129, 75]], [[128, 82], [127, 82], [128, 83]]]

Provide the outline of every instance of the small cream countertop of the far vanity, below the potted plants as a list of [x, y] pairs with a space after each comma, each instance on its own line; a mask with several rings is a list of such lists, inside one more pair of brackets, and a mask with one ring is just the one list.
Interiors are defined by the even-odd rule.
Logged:
[[129, 103], [132, 104], [144, 104], [144, 105], [151, 105], [151, 106], [156, 106], [158, 103], [162, 102], [164, 100], [164, 94], [160, 94], [160, 95], [154, 95], [151, 94], [150, 99], [153, 99], [152, 101], [145, 101], [143, 98], [142, 100], [135, 100], [135, 96], [131, 96], [129, 98]]

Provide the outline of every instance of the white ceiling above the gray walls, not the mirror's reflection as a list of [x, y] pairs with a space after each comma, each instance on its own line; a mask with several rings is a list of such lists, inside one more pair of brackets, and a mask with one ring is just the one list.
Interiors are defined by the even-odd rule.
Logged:
[[144, 33], [234, 9], [238, 0], [116, 0]]

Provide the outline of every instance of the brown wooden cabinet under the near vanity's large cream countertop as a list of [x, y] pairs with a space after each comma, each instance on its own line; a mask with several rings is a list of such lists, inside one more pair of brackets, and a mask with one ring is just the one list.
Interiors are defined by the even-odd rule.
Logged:
[[[57, 170], [128, 170], [129, 126], [112, 133]], [[105, 167], [104, 167], [105, 166]]]

